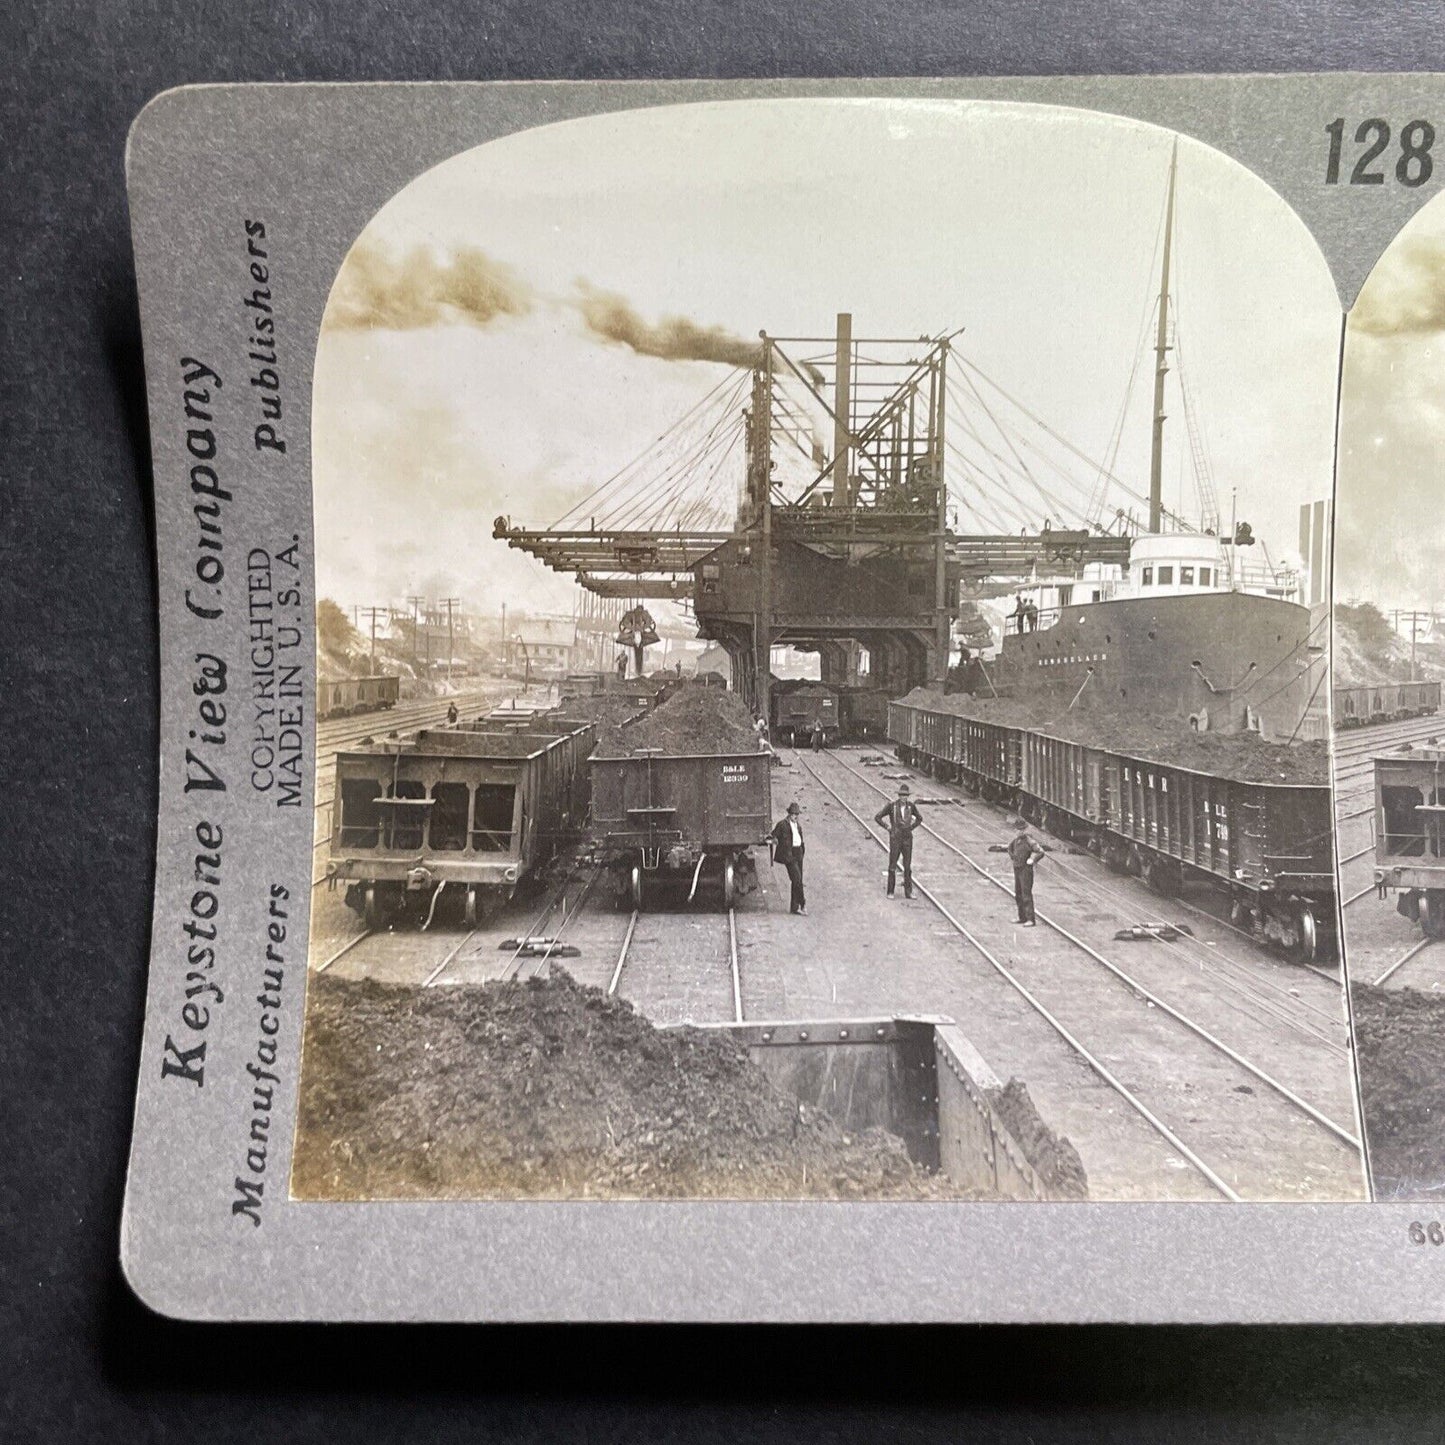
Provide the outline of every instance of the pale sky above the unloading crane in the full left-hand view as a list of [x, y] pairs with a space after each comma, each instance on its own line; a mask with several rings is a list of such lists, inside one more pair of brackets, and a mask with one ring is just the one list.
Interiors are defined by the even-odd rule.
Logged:
[[[321, 595], [569, 607], [571, 582], [494, 542], [493, 519], [552, 523], [725, 383], [760, 329], [827, 335], [838, 311], [855, 335], [962, 328], [958, 357], [1146, 491], [1172, 143], [1065, 108], [805, 100], [591, 117], [455, 156], [377, 212], [327, 309]], [[1334, 283], [1283, 201], [1189, 140], [1175, 236], [1179, 354], [1221, 512], [1237, 493], [1290, 553], [1299, 504], [1331, 481]], [[1194, 510], [1178, 393], [1166, 409], [1165, 500]]]

